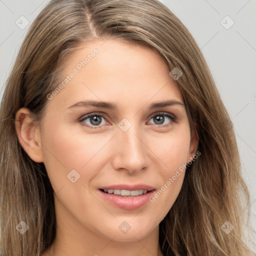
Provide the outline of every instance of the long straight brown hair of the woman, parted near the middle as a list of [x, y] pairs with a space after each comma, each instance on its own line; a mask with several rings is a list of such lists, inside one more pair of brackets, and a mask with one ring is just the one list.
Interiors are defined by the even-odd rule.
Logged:
[[[63, 59], [82, 42], [109, 37], [150, 47], [169, 70], [181, 70], [177, 83], [190, 127], [194, 120], [198, 124], [201, 154], [187, 166], [181, 191], [159, 224], [162, 253], [248, 255], [243, 227], [249, 211], [242, 212], [249, 193], [230, 118], [192, 35], [156, 0], [52, 0], [33, 21], [0, 106], [1, 255], [39, 256], [56, 230], [53, 189], [44, 164], [19, 144], [15, 113], [27, 107], [40, 120]], [[29, 227], [23, 234], [17, 231], [20, 221]], [[228, 234], [224, 223], [234, 227]]]

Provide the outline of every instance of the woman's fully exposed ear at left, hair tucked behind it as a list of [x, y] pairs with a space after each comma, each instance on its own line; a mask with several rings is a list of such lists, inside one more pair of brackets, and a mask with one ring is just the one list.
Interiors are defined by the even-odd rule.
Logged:
[[35, 162], [42, 162], [40, 126], [32, 121], [28, 108], [20, 108], [15, 115], [15, 130], [20, 145]]

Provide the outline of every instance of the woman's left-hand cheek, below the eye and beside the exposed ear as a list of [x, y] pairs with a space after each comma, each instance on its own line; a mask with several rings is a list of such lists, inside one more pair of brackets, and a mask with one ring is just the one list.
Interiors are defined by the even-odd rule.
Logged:
[[[109, 140], [107, 136], [85, 133], [81, 129], [74, 129], [71, 125], [67, 127], [52, 124], [48, 124], [42, 134], [44, 165], [53, 189], [55, 187], [54, 190], [70, 183], [68, 179], [70, 171], [77, 177], [79, 175], [82, 177], [86, 169], [84, 182], [89, 182], [97, 174], [95, 169], [100, 165], [104, 145]], [[97, 161], [94, 161], [95, 158]]]

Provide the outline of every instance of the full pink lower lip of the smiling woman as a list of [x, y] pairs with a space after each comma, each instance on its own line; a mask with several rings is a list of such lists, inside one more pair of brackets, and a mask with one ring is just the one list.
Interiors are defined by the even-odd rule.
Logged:
[[100, 194], [112, 205], [126, 210], [138, 209], [149, 201], [149, 197], [153, 195], [155, 189], [136, 196], [122, 196], [117, 194], [108, 194], [99, 190]]

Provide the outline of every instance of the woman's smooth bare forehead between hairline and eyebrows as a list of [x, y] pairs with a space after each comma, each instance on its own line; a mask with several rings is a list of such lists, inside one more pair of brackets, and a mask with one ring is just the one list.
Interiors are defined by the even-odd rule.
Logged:
[[142, 45], [115, 39], [90, 41], [81, 44], [64, 63], [59, 81], [62, 86], [53, 98], [62, 105], [83, 99], [114, 101], [117, 105], [125, 100], [130, 107], [152, 98], [182, 101], [168, 66]]

